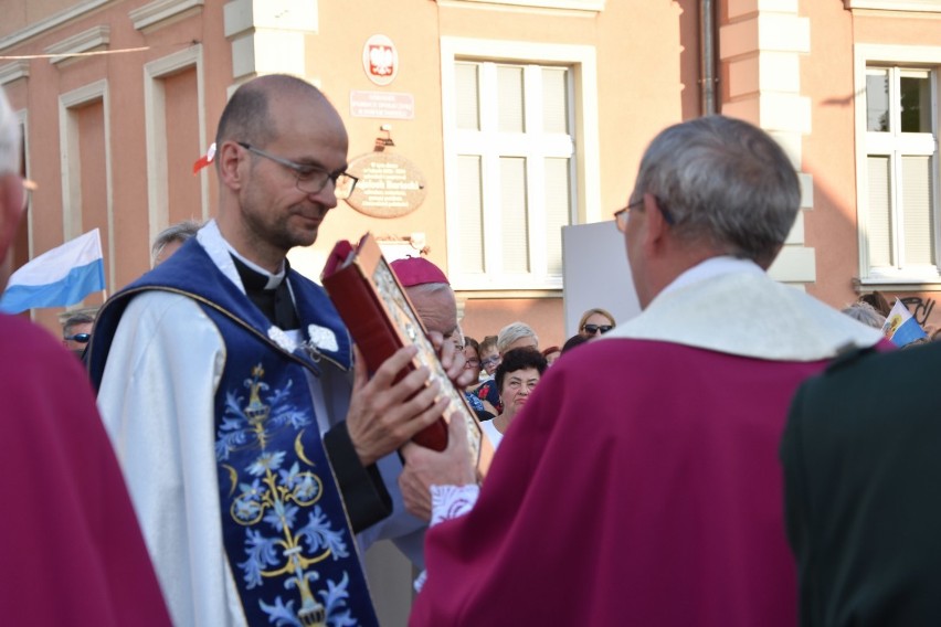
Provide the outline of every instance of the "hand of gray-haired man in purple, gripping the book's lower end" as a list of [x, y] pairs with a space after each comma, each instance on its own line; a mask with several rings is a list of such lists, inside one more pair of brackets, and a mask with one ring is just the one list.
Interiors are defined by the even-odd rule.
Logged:
[[447, 448], [441, 453], [409, 443], [402, 449], [405, 468], [399, 476], [399, 488], [405, 509], [413, 516], [431, 520], [431, 486], [466, 486], [477, 481], [477, 471], [467, 444], [467, 423], [461, 414], [451, 418]]

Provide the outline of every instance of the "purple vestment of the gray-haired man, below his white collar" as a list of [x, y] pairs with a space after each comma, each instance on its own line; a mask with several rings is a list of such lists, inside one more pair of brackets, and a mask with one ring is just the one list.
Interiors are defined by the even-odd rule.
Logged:
[[475, 508], [429, 532], [411, 625], [793, 627], [778, 447], [825, 363], [637, 339], [567, 354]]

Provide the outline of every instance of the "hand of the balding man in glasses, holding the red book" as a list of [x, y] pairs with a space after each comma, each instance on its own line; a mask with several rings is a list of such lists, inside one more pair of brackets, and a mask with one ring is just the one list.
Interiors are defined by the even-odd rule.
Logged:
[[395, 376], [417, 354], [415, 347], [395, 351], [371, 380], [362, 353], [358, 348], [353, 350], [356, 369], [347, 429], [360, 461], [369, 466], [438, 419], [447, 407], [448, 398], [442, 395], [435, 402], [435, 396], [441, 394], [441, 383], [435, 381], [426, 385], [430, 372], [425, 366], [393, 384]]

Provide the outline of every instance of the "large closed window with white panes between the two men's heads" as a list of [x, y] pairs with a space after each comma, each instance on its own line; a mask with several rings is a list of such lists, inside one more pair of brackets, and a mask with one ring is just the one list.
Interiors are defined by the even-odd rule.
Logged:
[[574, 111], [584, 72], [577, 60], [446, 62], [448, 276], [456, 289], [560, 289], [562, 226], [585, 215]]

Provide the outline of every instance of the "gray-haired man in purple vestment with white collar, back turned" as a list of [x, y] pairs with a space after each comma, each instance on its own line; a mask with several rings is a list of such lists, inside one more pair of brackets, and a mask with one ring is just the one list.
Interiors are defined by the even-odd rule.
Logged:
[[548, 371], [473, 509], [459, 428], [443, 453], [405, 448], [412, 511], [469, 509], [429, 530], [411, 625], [796, 624], [787, 405], [842, 348], [881, 337], [765, 274], [800, 196], [744, 121], [654, 139], [615, 213], [644, 311]]

